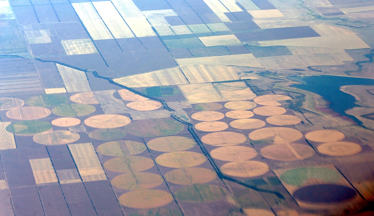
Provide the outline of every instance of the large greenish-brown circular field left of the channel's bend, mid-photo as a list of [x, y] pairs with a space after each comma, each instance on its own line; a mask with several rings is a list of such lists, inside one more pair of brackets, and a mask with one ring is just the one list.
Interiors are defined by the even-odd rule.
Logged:
[[127, 133], [139, 137], [170, 136], [183, 131], [184, 125], [172, 119], [145, 119], [126, 125]]

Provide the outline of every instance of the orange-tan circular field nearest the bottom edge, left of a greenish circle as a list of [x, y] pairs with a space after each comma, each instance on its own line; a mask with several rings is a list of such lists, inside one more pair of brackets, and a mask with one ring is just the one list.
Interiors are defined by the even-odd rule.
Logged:
[[173, 196], [166, 191], [148, 189], [122, 194], [118, 200], [122, 206], [129, 208], [153, 209], [171, 203]]

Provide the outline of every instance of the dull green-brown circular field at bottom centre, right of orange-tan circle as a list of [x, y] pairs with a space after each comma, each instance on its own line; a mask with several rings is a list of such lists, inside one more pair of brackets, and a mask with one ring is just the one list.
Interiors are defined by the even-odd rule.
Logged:
[[175, 196], [188, 203], [212, 203], [222, 200], [227, 190], [217, 185], [189, 185], [175, 191]]

